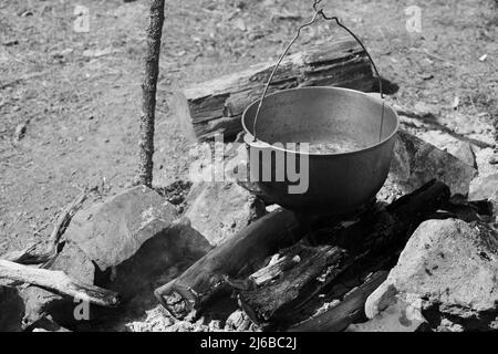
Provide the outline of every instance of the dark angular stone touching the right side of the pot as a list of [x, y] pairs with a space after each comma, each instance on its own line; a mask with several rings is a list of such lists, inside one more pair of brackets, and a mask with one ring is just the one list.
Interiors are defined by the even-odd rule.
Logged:
[[452, 154], [421, 138], [400, 131], [394, 145], [388, 180], [404, 194], [412, 192], [430, 179], [449, 186], [452, 194], [468, 194], [476, 169]]

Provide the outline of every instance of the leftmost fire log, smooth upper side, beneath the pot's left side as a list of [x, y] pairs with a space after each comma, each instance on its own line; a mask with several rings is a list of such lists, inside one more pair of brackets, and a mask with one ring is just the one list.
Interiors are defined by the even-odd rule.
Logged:
[[277, 209], [212, 249], [180, 277], [156, 289], [155, 295], [173, 315], [179, 316], [181, 313], [177, 313], [165, 296], [177, 293], [189, 302], [188, 309], [198, 306], [226, 284], [227, 277], [252, 273], [269, 256], [300, 237], [295, 216]]

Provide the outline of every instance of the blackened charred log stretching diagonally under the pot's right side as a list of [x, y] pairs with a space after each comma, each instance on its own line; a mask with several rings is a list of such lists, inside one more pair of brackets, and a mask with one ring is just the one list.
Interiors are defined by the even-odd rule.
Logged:
[[[298, 312], [340, 274], [351, 268], [356, 268], [352, 273], [357, 274], [371, 266], [372, 259], [385, 261], [386, 257], [396, 257], [413, 230], [448, 198], [449, 188], [433, 180], [383, 210], [324, 232], [322, 239], [315, 237], [331, 244], [328, 252], [336, 254], [334, 262], [322, 263], [325, 267], [313, 269], [308, 278], [309, 266], [304, 263], [281, 269], [279, 278], [271, 283], [242, 289], [239, 294], [242, 308], [262, 326], [292, 323]], [[318, 246], [317, 251], [322, 247]]]

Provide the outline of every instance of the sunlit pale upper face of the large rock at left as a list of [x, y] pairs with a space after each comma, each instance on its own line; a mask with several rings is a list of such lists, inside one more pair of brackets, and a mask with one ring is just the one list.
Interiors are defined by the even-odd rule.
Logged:
[[156, 191], [136, 186], [76, 212], [64, 237], [105, 271], [131, 258], [176, 218], [175, 207]]

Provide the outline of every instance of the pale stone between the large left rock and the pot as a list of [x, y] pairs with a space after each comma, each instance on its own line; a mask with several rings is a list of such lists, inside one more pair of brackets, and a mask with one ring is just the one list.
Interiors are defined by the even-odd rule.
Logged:
[[187, 197], [185, 216], [191, 226], [218, 246], [261, 217], [264, 204], [237, 183], [200, 183]]

